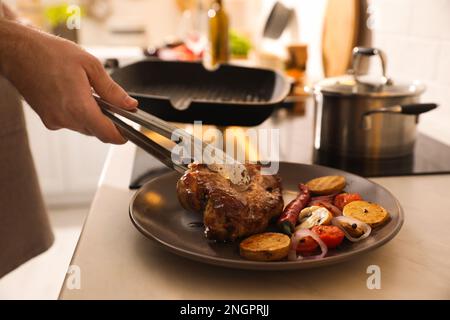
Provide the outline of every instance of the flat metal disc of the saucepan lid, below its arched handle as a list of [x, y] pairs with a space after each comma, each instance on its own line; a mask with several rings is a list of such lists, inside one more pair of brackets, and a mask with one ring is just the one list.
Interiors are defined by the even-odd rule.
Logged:
[[319, 81], [314, 86], [314, 90], [323, 94], [376, 97], [415, 96], [425, 91], [425, 86], [420, 81], [396, 83], [388, 80], [383, 83], [366, 78], [364, 81], [362, 79], [357, 81], [354, 75], [327, 78]]

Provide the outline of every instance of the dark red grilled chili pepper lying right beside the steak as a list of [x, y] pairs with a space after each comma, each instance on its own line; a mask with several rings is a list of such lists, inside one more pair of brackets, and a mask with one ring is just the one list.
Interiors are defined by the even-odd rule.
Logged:
[[294, 200], [289, 202], [283, 210], [283, 213], [280, 215], [277, 223], [280, 230], [287, 235], [291, 235], [294, 231], [300, 211], [306, 207], [311, 199], [309, 189], [306, 185], [300, 183], [298, 189], [300, 190], [300, 193]]

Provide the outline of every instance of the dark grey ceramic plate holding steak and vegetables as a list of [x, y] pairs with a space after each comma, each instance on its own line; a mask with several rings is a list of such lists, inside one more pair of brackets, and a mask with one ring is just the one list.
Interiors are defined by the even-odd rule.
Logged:
[[357, 243], [344, 241], [339, 249], [330, 250], [320, 260], [254, 262], [239, 256], [237, 243], [215, 243], [204, 237], [200, 214], [184, 210], [178, 203], [176, 182], [178, 173], [169, 172], [149, 181], [139, 189], [130, 204], [130, 217], [145, 236], [156, 240], [164, 248], [186, 258], [204, 263], [239, 269], [286, 270], [313, 268], [338, 263], [382, 246], [398, 233], [403, 224], [402, 208], [394, 196], [362, 177], [337, 169], [295, 163], [280, 163], [283, 196], [288, 203], [297, 194], [299, 182], [325, 175], [343, 175], [346, 191], [359, 192], [368, 200], [381, 204], [391, 216], [383, 227]]

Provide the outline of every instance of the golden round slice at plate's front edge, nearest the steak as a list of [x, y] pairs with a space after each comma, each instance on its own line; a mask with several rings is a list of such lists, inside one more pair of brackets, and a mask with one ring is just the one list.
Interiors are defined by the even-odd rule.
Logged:
[[266, 232], [255, 234], [239, 245], [242, 257], [254, 261], [278, 261], [289, 252], [291, 239], [282, 233]]

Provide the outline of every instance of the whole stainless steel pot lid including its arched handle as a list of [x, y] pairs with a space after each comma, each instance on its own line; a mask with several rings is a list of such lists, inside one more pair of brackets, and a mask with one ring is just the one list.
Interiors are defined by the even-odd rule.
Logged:
[[[382, 75], [361, 75], [359, 72], [362, 56], [377, 56], [380, 59]], [[349, 74], [327, 78], [318, 82], [316, 92], [333, 95], [361, 95], [375, 97], [415, 96], [425, 90], [419, 81], [397, 83], [386, 76], [385, 54], [376, 48], [355, 47], [353, 49], [352, 69]]]

